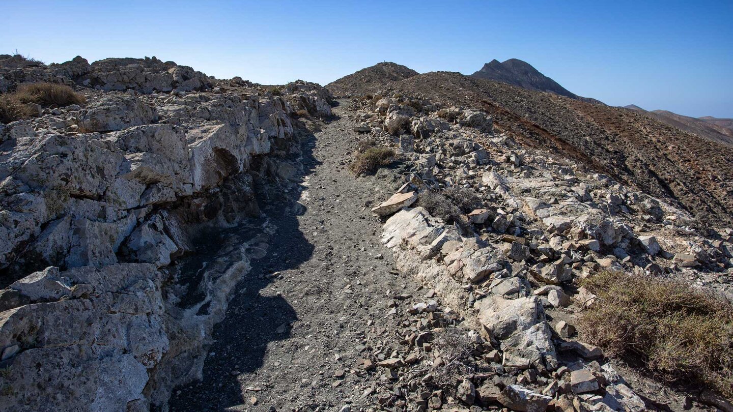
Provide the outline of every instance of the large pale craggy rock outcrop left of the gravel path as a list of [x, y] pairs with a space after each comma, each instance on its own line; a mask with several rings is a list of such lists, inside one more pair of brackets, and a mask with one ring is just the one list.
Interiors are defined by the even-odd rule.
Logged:
[[232, 288], [266, 247], [237, 238], [207, 256], [202, 244], [259, 216], [258, 186], [284, 190], [303, 121], [330, 115], [330, 95], [303, 81], [273, 95], [155, 58], [0, 59], [2, 89], [26, 81], [87, 103], [0, 126], [0, 405], [165, 407], [200, 375]]

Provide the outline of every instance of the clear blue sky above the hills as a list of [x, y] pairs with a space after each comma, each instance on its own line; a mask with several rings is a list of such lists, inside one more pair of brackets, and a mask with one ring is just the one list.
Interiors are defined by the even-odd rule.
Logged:
[[733, 117], [733, 1], [12, 1], [0, 54], [157, 56], [218, 78], [326, 84], [377, 62], [529, 62], [578, 95]]

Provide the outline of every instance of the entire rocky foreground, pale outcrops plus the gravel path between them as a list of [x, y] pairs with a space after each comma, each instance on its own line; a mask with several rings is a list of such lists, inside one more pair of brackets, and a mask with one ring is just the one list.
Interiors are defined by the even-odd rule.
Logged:
[[605, 271], [730, 295], [733, 230], [676, 202], [424, 95], [1, 57], [86, 98], [0, 128], [3, 410], [732, 408], [578, 323]]

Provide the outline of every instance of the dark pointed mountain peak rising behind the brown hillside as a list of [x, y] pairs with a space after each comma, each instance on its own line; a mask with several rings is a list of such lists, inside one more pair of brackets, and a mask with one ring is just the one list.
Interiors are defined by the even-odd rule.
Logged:
[[520, 59], [509, 59], [504, 62], [493, 59], [491, 62], [486, 63], [481, 70], [472, 74], [471, 77], [500, 81], [501, 83], [511, 84], [512, 86], [523, 89], [550, 92], [575, 100], [603, 104], [600, 100], [583, 98], [570, 92], [570, 90], [565, 89], [558, 82], [543, 75], [532, 65]]

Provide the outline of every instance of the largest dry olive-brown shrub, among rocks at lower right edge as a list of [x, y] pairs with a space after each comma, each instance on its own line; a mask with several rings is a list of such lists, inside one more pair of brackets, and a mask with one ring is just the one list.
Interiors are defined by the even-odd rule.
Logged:
[[641, 361], [671, 383], [733, 398], [733, 304], [685, 282], [605, 271], [583, 285], [600, 298], [583, 334], [611, 356]]

